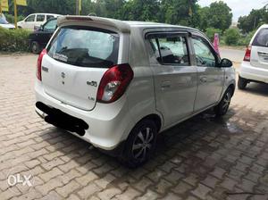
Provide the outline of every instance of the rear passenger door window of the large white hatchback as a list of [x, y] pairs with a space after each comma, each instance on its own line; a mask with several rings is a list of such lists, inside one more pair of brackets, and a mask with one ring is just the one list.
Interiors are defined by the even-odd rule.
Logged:
[[178, 35], [150, 39], [156, 59], [162, 64], [189, 65], [186, 37]]

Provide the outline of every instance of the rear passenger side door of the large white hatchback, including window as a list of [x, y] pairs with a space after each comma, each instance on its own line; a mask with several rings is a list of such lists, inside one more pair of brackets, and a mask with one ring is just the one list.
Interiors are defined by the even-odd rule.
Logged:
[[194, 110], [197, 68], [190, 63], [188, 34], [152, 34], [148, 42], [156, 110], [163, 114], [164, 126], [170, 126]]

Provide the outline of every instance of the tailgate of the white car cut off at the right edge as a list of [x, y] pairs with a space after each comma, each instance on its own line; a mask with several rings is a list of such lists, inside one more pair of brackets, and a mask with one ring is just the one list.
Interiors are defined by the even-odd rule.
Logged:
[[268, 70], [268, 29], [260, 29], [251, 46], [252, 66]]

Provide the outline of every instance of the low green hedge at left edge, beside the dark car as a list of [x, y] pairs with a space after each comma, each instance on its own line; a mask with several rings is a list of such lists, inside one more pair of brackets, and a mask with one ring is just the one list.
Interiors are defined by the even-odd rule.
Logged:
[[29, 31], [25, 29], [4, 29], [0, 27], [0, 51], [29, 51]]

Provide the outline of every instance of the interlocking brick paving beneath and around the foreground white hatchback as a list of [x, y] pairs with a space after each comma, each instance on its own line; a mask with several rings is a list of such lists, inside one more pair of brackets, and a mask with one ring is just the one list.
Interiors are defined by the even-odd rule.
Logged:
[[[237, 90], [223, 119], [203, 113], [166, 131], [155, 157], [133, 171], [39, 119], [36, 59], [0, 56], [1, 200], [268, 199], [267, 86]], [[8, 188], [11, 170], [30, 171], [33, 187]]]

